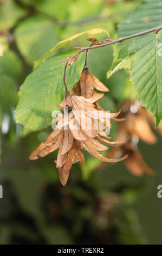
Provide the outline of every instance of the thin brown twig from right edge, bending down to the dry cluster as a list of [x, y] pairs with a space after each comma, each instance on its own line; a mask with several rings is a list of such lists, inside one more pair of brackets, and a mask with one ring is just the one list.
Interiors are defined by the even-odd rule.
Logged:
[[[106, 41], [101, 45], [94, 45], [94, 46], [87, 46], [87, 47], [74, 47], [74, 49], [79, 49], [79, 51], [77, 51], [72, 57], [70, 57], [70, 59], [68, 59], [68, 61], [73, 60], [75, 58], [75, 56], [76, 55], [78, 56], [81, 52], [85, 52], [85, 51], [88, 52], [89, 50], [92, 50], [92, 49], [95, 49], [95, 48], [100, 48], [100, 47], [104, 47], [104, 46], [107, 46], [107, 45], [116, 44], [116, 42], [122, 42], [122, 41], [125, 41], [127, 39], [135, 38], [136, 36], [145, 35], [145, 34], [148, 34], [148, 33], [154, 32], [154, 31], [155, 31], [155, 33], [158, 33], [160, 31], [160, 29], [162, 29], [162, 26], [151, 28], [151, 29], [148, 29], [146, 31], [139, 32], [139, 33], [136, 33], [136, 34], [133, 34], [133, 35], [124, 36], [124, 37], [118, 38], [116, 40], [109, 40], [108, 42]], [[86, 56], [86, 58], [87, 58], [87, 56]], [[86, 63], [87, 63], [87, 59], [86, 59]], [[65, 81], [66, 69], [67, 69], [67, 63], [64, 66], [64, 72], [63, 72], [63, 83], [64, 83], [64, 87], [65, 87], [66, 93], [67, 93], [68, 90], [67, 90], [66, 81]]]

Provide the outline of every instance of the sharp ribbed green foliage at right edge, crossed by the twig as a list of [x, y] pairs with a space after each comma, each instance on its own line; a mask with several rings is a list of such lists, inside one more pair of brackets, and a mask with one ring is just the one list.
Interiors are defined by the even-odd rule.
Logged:
[[[145, 0], [128, 19], [119, 25], [119, 36], [127, 36], [162, 25], [161, 0]], [[115, 48], [115, 59], [107, 73], [110, 77], [121, 68], [131, 69], [131, 81], [143, 106], [156, 118], [156, 126], [162, 118], [161, 57], [158, 34], [142, 35], [121, 42]]]

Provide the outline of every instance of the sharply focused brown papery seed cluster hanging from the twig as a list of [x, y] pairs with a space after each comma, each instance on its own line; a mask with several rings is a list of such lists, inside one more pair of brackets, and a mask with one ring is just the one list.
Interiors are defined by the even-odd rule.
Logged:
[[[120, 159], [109, 159], [98, 152], [108, 149], [103, 144], [119, 145], [124, 143], [124, 141], [109, 141], [112, 138], [108, 137], [105, 131], [98, 126], [96, 127], [94, 124], [94, 117], [98, 123], [100, 122], [100, 118], [105, 123], [107, 119], [117, 117], [120, 112], [108, 114], [104, 112], [104, 115], [100, 117], [100, 109], [96, 107], [96, 100], [100, 99], [103, 94], [95, 93], [93, 88], [108, 92], [107, 87], [91, 75], [88, 69], [84, 69], [80, 81], [73, 89], [73, 93], [76, 90], [81, 90], [78, 94], [82, 96], [70, 95], [72, 92], [66, 94], [65, 99], [58, 105], [58, 107], [63, 109], [63, 117], [58, 119], [56, 129], [29, 156], [30, 160], [35, 160], [38, 159], [38, 156], [46, 156], [59, 148], [55, 162], [59, 170], [60, 181], [64, 186], [67, 183], [72, 164], [77, 161], [83, 164], [85, 161], [82, 148], [87, 150], [92, 156], [105, 162], [119, 162], [127, 158], [127, 155], [125, 155]], [[68, 111], [65, 111], [64, 109], [67, 109], [67, 107]], [[73, 121], [70, 114], [73, 114]], [[81, 126], [82, 121], [85, 123], [83, 128]], [[89, 123], [91, 126], [89, 126]]]

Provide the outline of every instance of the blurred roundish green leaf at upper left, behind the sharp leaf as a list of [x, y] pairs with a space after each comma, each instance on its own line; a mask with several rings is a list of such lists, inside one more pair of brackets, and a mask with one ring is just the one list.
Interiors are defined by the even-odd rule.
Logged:
[[41, 58], [57, 42], [52, 21], [40, 17], [30, 17], [18, 25], [15, 38], [22, 55], [32, 63]]

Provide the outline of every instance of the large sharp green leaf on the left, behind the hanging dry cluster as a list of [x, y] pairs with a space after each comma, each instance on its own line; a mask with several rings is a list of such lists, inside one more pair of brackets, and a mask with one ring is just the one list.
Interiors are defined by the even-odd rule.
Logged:
[[[34, 131], [43, 129], [51, 123], [51, 113], [63, 100], [63, 69], [65, 59], [76, 50], [63, 52], [49, 58], [31, 73], [20, 88], [20, 100], [16, 108], [17, 123]], [[66, 82], [68, 90], [79, 80], [85, 54], [68, 66]]]

